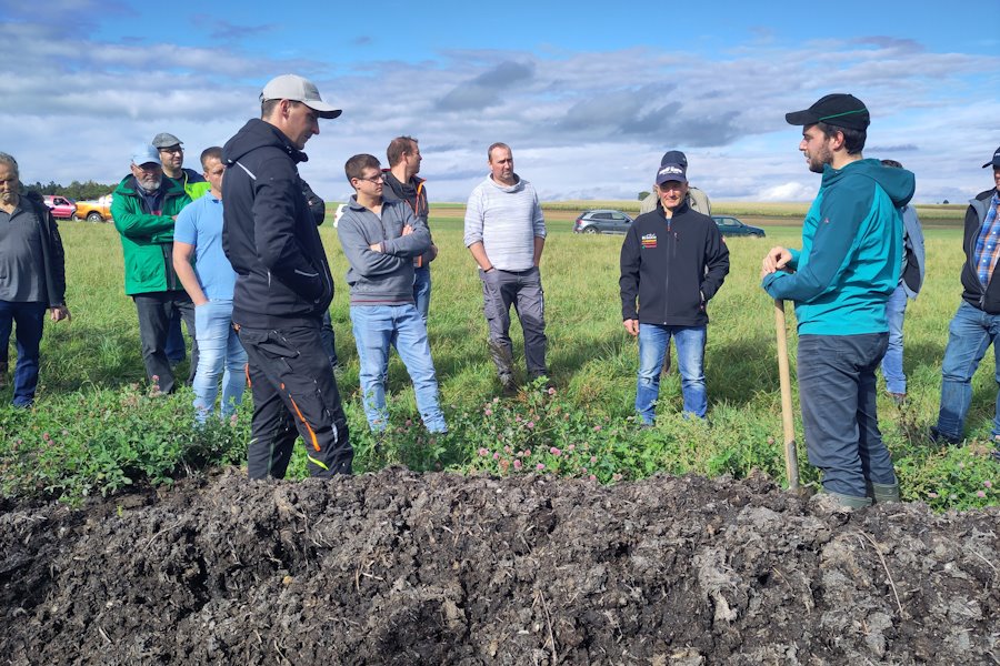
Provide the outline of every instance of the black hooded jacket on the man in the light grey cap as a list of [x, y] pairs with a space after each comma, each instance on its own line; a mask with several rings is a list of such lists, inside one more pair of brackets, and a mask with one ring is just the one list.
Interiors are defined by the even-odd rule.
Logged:
[[306, 153], [252, 119], [222, 147], [222, 250], [237, 278], [232, 321], [251, 329], [312, 325], [333, 278], [296, 168]]

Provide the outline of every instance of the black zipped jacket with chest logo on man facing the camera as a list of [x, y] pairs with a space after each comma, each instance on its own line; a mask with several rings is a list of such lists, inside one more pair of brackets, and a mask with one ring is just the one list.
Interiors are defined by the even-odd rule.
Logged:
[[727, 273], [729, 249], [714, 221], [687, 204], [668, 220], [658, 204], [636, 219], [621, 245], [621, 319], [703, 326], [704, 305]]

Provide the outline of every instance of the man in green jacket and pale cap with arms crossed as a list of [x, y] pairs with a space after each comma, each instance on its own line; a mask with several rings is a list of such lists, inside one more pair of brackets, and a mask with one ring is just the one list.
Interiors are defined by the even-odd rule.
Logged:
[[191, 199], [163, 178], [160, 155], [150, 144], [132, 153], [131, 173], [114, 190], [111, 215], [121, 236], [126, 294], [139, 314], [146, 374], [161, 393], [174, 390], [167, 359], [167, 332], [174, 312], [194, 331], [194, 306], [173, 271], [173, 225]]

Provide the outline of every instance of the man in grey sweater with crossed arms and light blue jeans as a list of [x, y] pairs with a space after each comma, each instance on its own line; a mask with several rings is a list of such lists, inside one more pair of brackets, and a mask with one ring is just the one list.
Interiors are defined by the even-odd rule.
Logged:
[[344, 172], [356, 194], [337, 224], [337, 235], [351, 266], [347, 282], [368, 425], [373, 432], [388, 427], [386, 380], [392, 345], [413, 381], [423, 425], [432, 433], [448, 432], [427, 325], [413, 300], [413, 258], [431, 244], [427, 224], [406, 201], [382, 199], [384, 176], [373, 155], [354, 155]]

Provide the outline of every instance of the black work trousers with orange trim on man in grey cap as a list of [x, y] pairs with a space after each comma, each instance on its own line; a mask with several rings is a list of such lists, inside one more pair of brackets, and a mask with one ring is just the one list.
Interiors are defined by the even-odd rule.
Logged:
[[311, 476], [350, 474], [354, 452], [330, 359], [314, 326], [239, 329], [247, 350], [253, 422], [250, 478], [284, 478], [298, 436]]

